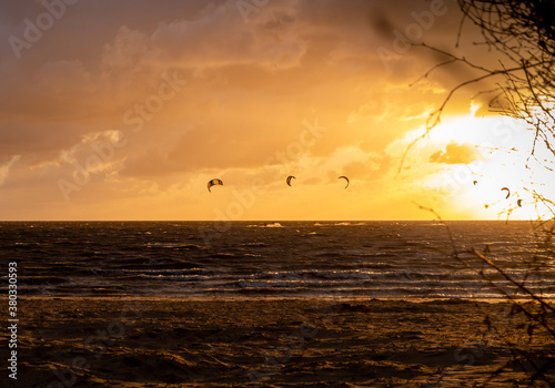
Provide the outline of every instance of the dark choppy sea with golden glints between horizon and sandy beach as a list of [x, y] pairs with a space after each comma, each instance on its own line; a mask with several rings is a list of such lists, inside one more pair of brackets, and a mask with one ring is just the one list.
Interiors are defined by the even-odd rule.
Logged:
[[16, 262], [20, 297], [553, 299], [553, 244], [524, 221], [3, 222], [0, 286]]

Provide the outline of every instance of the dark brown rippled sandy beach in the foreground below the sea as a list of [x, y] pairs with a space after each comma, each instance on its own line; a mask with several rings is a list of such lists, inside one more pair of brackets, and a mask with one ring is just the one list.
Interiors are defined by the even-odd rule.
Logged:
[[536, 367], [555, 355], [545, 330], [528, 335], [523, 314], [485, 302], [22, 298], [19, 308], [18, 380], [4, 369], [3, 386], [517, 387], [534, 365], [515, 355]]

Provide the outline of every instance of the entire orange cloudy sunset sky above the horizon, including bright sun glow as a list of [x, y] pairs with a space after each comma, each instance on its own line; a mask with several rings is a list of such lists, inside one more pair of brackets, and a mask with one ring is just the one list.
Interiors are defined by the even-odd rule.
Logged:
[[468, 22], [456, 44], [461, 18], [452, 0], [1, 1], [0, 219], [533, 218], [531, 184], [555, 180], [525, 169], [533, 136], [488, 112], [491, 84], [402, 162], [478, 74], [423, 76], [445, 57], [417, 44], [498, 61]]

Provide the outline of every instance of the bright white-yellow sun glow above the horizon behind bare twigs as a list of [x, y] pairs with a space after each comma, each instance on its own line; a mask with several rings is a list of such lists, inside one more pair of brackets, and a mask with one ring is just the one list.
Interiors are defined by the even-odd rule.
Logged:
[[536, 147], [531, 157], [533, 131], [508, 118], [476, 118], [476, 111], [472, 105], [468, 115], [445, 120], [418, 145], [432, 202], [471, 218], [548, 216], [536, 197], [553, 195], [555, 175], [537, 161], [553, 154]]

